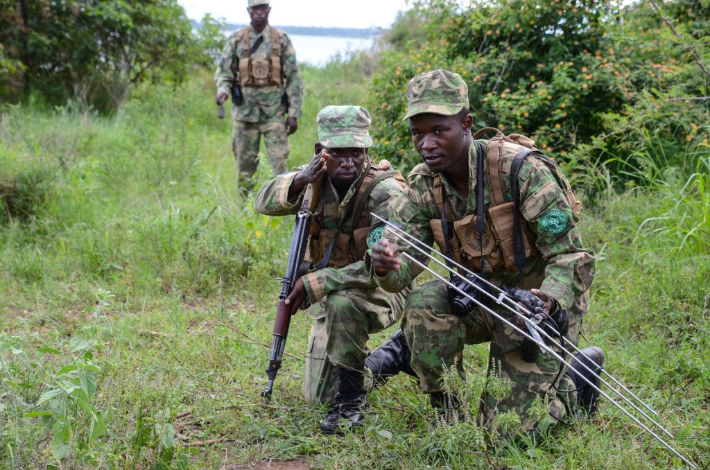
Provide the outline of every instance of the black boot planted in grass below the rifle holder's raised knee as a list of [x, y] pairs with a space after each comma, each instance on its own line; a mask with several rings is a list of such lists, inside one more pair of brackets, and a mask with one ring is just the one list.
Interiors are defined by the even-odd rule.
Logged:
[[334, 405], [322, 423], [320, 430], [325, 434], [342, 434], [348, 427], [358, 427], [365, 420], [365, 376], [361, 371], [337, 368], [338, 391]]

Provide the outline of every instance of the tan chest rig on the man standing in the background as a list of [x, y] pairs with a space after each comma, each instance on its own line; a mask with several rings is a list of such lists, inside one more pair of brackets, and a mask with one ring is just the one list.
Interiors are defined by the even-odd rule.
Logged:
[[[241, 30], [244, 38], [242, 57], [239, 59], [239, 84], [242, 87], [266, 87], [280, 85], [281, 77], [281, 39], [283, 31], [271, 28], [271, 52], [266, 60], [254, 60], [249, 46], [251, 26]], [[258, 40], [258, 39], [257, 39]]]

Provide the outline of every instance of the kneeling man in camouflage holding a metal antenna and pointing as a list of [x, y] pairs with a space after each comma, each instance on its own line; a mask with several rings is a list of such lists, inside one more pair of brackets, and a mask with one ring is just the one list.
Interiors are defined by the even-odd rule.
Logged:
[[[515, 155], [525, 146], [502, 136], [476, 140], [471, 135], [468, 89], [457, 74], [421, 73], [410, 81], [407, 99], [405, 120], [423, 163], [410, 173], [391, 222], [428, 246], [436, 242], [442, 253], [494, 285], [518, 287], [537, 296], [545, 316], [576, 345], [582, 317], [589, 310], [594, 254], [582, 245], [576, 226], [580, 204], [557, 165], [541, 153], [531, 153], [519, 170], [513, 170]], [[517, 177], [511, 177], [516, 171]], [[518, 195], [515, 210], [513, 199]], [[480, 225], [478, 217], [484, 217]], [[523, 264], [514, 256], [515, 224], [522, 232]], [[398, 292], [422, 271], [400, 258], [399, 250], [397, 239], [387, 231], [366, 259], [378, 285], [388, 292]], [[427, 261], [415, 250], [408, 254]], [[578, 405], [588, 412], [596, 409], [598, 395], [591, 387], [572, 371], [562, 373], [564, 368], [552, 356], [535, 355], [536, 348], [526, 348], [522, 334], [476, 306], [461, 312], [452, 305], [447, 285], [431, 280], [410, 293], [402, 321], [411, 366], [440, 415], [445, 415], [447, 404], [460, 406], [444, 388], [444, 368], [455, 368], [465, 378], [464, 345], [482, 342], [490, 342], [488, 374], [512, 382], [508, 398], [498, 399], [487, 391], [481, 396], [479, 422], [493, 435], [515, 438], [496, 422], [503, 412], [517, 413], [524, 433], [542, 435], [559, 422], [573, 422]], [[512, 317], [503, 310], [498, 313]], [[586, 364], [603, 365], [601, 349], [583, 352]], [[369, 360], [393, 373], [400, 358], [383, 348]], [[536, 400], [545, 403], [549, 414], [542, 418], [528, 414]]]

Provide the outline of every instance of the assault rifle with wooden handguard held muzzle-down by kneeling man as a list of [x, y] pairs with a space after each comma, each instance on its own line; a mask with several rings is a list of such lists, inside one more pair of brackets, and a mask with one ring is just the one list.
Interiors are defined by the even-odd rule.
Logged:
[[276, 305], [276, 319], [273, 326], [273, 344], [271, 346], [271, 356], [268, 360], [268, 368], [266, 368], [266, 376], [268, 377], [268, 385], [261, 392], [261, 396], [268, 401], [271, 398], [271, 390], [273, 389], [273, 381], [276, 378], [278, 369], [281, 368], [281, 359], [283, 357], [283, 349], [286, 346], [286, 337], [288, 337], [288, 327], [291, 323], [291, 312], [298, 310], [300, 305], [286, 305], [286, 297], [293, 290], [293, 285], [296, 280], [308, 272], [312, 263], [305, 261], [306, 246], [308, 244], [308, 232], [313, 218], [313, 211], [318, 203], [320, 195], [320, 180], [312, 182], [306, 187], [303, 202], [296, 220], [293, 224], [293, 236], [291, 237], [291, 248], [288, 251], [288, 264], [286, 265], [286, 274], [281, 281], [281, 293], [278, 295], [278, 305]]

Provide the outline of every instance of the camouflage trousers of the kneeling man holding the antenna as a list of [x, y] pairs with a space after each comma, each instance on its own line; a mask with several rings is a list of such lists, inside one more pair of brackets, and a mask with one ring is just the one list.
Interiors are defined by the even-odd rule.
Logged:
[[[495, 311], [517, 324], [512, 312]], [[567, 333], [567, 339], [575, 346], [579, 341], [580, 323], [570, 325]], [[402, 329], [412, 350], [412, 368], [420, 377], [424, 393], [444, 391], [444, 366], [449, 369], [455, 364], [459, 376], [465, 379], [461, 360], [464, 345], [490, 342], [488, 377], [510, 381], [512, 391], [506, 398], [496, 398], [484, 390], [479, 423], [501, 439], [513, 439], [520, 430], [545, 434], [558, 420], [572, 421], [577, 393], [572, 380], [564, 374], [567, 366], [560, 372], [559, 361], [550, 354], [540, 354], [532, 364], [523, 361], [520, 358], [523, 335], [479, 307], [474, 307], [463, 318], [452, 315], [447, 287], [441, 280], [425, 283], [409, 295]], [[554, 349], [562, 355], [556, 346]], [[572, 359], [566, 356], [565, 360]], [[529, 413], [533, 402], [545, 405], [549, 413], [542, 417], [539, 413], [537, 417]], [[520, 417], [520, 429], [512, 431], [512, 435], [496, 423], [499, 414], [510, 411]]]

